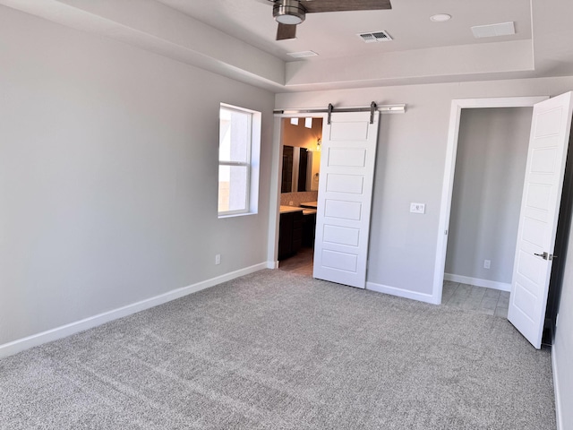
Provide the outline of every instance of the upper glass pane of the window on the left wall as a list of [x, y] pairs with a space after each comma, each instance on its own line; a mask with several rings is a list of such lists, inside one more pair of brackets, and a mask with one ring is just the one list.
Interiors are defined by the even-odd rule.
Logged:
[[221, 108], [219, 152], [221, 161], [248, 163], [251, 148], [251, 116], [249, 112]]

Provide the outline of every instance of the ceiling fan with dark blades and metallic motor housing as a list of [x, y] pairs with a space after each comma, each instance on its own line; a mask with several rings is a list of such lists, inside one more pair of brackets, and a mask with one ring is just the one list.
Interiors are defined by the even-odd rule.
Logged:
[[277, 40], [295, 39], [306, 13], [391, 9], [390, 0], [268, 0], [278, 22]]

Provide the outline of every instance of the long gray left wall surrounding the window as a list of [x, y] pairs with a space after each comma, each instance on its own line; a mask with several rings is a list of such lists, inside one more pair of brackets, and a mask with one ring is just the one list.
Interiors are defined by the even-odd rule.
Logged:
[[[267, 262], [271, 93], [4, 7], [0, 40], [0, 345]], [[218, 219], [219, 102], [263, 113], [258, 215]]]

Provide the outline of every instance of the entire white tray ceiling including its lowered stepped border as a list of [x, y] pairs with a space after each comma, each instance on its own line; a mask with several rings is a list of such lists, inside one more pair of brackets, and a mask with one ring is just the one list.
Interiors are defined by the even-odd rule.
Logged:
[[[282, 41], [267, 0], [0, 4], [276, 92], [573, 75], [571, 0], [392, 0], [391, 10], [310, 13]], [[435, 13], [452, 19], [431, 22]], [[472, 26], [500, 22], [516, 34], [474, 38]], [[377, 30], [393, 40], [356, 36]], [[287, 56], [307, 50], [319, 56]]]

